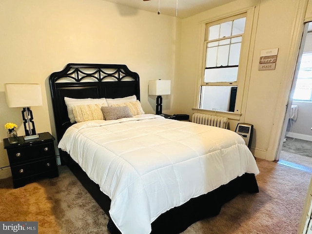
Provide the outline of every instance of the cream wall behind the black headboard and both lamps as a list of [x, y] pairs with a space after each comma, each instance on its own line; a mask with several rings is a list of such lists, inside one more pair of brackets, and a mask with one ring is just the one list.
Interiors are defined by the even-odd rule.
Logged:
[[[148, 80], [174, 77], [177, 24], [175, 17], [104, 0], [1, 0], [0, 168], [9, 165], [4, 124], [14, 122], [19, 136], [25, 134], [21, 108], [6, 105], [4, 83], [41, 84], [43, 106], [32, 108], [38, 133], [56, 136], [48, 77], [67, 63], [126, 64], [140, 76], [144, 111], [155, 113]], [[174, 94], [164, 112], [170, 98]]]

